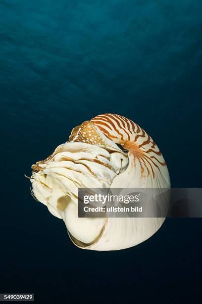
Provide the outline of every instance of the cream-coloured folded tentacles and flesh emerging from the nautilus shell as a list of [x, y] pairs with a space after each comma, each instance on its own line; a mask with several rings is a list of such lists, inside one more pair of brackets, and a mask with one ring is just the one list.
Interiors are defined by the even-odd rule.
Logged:
[[113, 143], [112, 146], [110, 150], [114, 152], [110, 154], [85, 143], [63, 144], [48, 162], [40, 165], [42, 169], [32, 175], [35, 197], [52, 215], [63, 219], [74, 238], [85, 244], [98, 238], [105, 219], [77, 217], [77, 188], [109, 188], [117, 173], [125, 170], [128, 157]]

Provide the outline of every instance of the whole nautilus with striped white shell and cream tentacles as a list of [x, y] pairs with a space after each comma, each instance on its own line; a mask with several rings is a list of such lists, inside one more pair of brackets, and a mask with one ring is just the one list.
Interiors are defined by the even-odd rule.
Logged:
[[151, 237], [165, 218], [78, 218], [78, 188], [169, 188], [165, 160], [152, 138], [117, 114], [75, 127], [69, 139], [32, 165], [32, 194], [62, 219], [83, 249], [119, 250]]

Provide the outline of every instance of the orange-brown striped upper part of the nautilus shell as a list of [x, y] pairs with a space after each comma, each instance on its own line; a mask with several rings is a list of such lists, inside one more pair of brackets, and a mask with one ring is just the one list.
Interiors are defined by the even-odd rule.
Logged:
[[159, 180], [156, 187], [170, 186], [167, 166], [160, 150], [138, 124], [117, 114], [101, 114], [91, 121], [107, 138], [128, 150], [129, 157], [133, 155], [134, 162], [140, 166], [141, 177], [152, 175], [153, 180]]

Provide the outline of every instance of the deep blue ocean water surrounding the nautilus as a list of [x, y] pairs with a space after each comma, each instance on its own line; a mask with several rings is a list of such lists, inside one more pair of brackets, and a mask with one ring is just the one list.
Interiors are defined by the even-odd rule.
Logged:
[[30, 195], [31, 165], [101, 113], [202, 187], [201, 0], [0, 0], [0, 293], [37, 303], [201, 303], [202, 219], [167, 219], [119, 252], [75, 247]]

